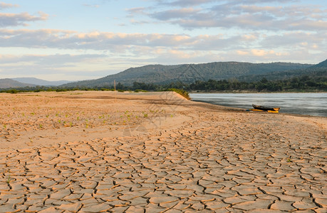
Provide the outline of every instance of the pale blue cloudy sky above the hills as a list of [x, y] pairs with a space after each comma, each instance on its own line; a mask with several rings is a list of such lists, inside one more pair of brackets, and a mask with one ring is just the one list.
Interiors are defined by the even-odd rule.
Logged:
[[0, 79], [326, 58], [326, 0], [0, 0]]

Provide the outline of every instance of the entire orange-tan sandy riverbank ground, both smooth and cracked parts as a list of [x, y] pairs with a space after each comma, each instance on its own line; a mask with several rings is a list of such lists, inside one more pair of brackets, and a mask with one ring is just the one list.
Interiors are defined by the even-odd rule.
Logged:
[[327, 212], [326, 132], [173, 92], [0, 94], [0, 212]]

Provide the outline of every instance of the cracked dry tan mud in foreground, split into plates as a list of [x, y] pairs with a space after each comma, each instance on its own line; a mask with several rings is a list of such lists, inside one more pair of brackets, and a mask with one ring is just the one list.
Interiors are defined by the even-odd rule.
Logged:
[[180, 104], [172, 129], [0, 149], [0, 212], [327, 212], [326, 126]]

